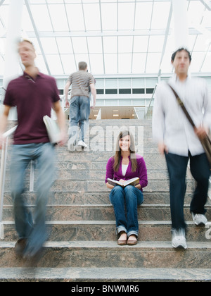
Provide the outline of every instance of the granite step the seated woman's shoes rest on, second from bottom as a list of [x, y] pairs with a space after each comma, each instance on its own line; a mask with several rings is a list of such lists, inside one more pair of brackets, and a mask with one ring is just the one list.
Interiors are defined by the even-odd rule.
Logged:
[[[32, 264], [15, 254], [14, 245], [15, 242], [0, 242], [0, 268]], [[153, 241], [139, 242], [135, 246], [118, 246], [110, 241], [46, 242], [36, 267], [197, 269], [203, 266], [203, 269], [210, 269], [210, 255], [210, 242], [188, 242], [186, 250], [175, 250], [170, 242]]]

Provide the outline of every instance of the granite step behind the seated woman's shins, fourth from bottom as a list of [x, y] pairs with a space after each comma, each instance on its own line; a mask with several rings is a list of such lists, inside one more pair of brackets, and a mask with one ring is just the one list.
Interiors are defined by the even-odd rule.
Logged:
[[[211, 220], [211, 206], [207, 205], [206, 217]], [[35, 206], [28, 206], [28, 209], [34, 213]], [[191, 220], [190, 206], [184, 206], [185, 219]], [[170, 204], [142, 204], [138, 206], [138, 218], [143, 221], [170, 221]], [[13, 221], [13, 206], [4, 206], [4, 221]], [[113, 221], [115, 213], [112, 204], [75, 204], [60, 205], [51, 204], [47, 206], [46, 220], [48, 221]]]

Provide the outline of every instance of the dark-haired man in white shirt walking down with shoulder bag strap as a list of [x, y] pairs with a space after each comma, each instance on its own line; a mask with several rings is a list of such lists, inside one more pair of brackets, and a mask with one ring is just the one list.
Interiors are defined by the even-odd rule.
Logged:
[[[191, 213], [196, 225], [206, 224], [205, 204], [210, 178], [210, 166], [199, 138], [211, 127], [211, 98], [205, 80], [191, 78], [188, 68], [191, 54], [181, 48], [172, 55], [175, 74], [160, 83], [153, 108], [153, 138], [160, 154], [165, 154], [170, 175], [170, 206], [172, 214], [172, 246], [186, 249], [184, 196], [186, 168], [190, 159], [191, 173], [197, 182], [191, 202]], [[188, 110], [196, 130], [193, 130], [170, 85]]]

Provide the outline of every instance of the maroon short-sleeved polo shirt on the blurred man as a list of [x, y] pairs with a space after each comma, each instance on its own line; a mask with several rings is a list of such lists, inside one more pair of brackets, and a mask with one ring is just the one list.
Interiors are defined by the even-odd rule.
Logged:
[[52, 104], [60, 99], [56, 80], [39, 73], [36, 80], [24, 73], [9, 82], [4, 105], [17, 106], [18, 128], [14, 144], [49, 142], [43, 116], [51, 116]]

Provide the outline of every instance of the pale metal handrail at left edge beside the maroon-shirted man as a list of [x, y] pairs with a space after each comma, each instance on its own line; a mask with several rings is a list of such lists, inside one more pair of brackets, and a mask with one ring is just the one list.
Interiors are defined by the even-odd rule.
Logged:
[[0, 171], [0, 238], [4, 239], [4, 226], [2, 224], [2, 216], [3, 216], [3, 203], [4, 203], [4, 183], [5, 183], [5, 175], [6, 175], [6, 157], [8, 150], [8, 138], [10, 135], [15, 132], [18, 125], [15, 125], [13, 128], [4, 132], [4, 142], [2, 143], [1, 149], [1, 171]]

